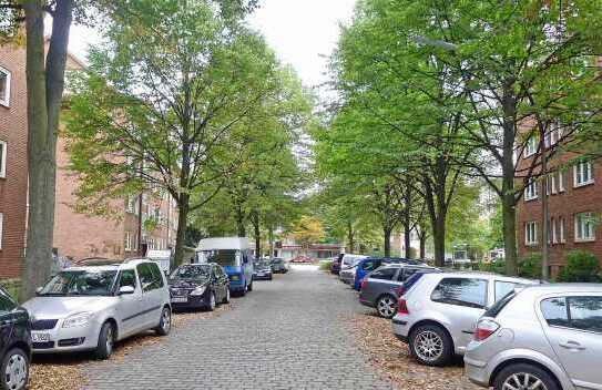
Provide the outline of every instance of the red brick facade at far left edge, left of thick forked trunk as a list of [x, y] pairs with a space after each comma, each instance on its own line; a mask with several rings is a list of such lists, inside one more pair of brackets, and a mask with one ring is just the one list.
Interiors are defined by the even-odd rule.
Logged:
[[10, 101], [0, 104], [0, 141], [6, 142], [6, 174], [0, 177], [0, 278], [22, 270], [27, 218], [27, 81], [25, 50], [0, 47], [0, 68], [10, 72]]

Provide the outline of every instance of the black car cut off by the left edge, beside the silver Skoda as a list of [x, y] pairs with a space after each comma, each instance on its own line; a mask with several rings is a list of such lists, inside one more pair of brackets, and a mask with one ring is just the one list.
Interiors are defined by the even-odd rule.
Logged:
[[31, 322], [25, 309], [0, 287], [0, 389], [25, 389], [31, 360]]

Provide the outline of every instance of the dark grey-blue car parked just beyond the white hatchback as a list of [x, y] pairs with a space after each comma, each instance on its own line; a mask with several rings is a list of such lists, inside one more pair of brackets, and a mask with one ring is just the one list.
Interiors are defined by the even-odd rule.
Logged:
[[392, 318], [397, 312], [398, 288], [411, 275], [425, 271], [438, 271], [438, 269], [404, 263], [384, 265], [368, 274], [361, 281], [359, 302], [375, 308], [380, 317]]

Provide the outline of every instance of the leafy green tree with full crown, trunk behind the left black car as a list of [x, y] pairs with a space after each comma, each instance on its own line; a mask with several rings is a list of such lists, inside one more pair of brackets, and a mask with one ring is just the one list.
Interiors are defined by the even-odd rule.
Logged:
[[[65, 132], [82, 209], [163, 188], [178, 207], [175, 263], [188, 215], [205, 205], [242, 158], [236, 132], [278, 93], [277, 61], [264, 40], [212, 1], [115, 1], [104, 44], [74, 82]], [[195, 191], [212, 184], [204, 197]], [[192, 202], [194, 199], [194, 202]]]

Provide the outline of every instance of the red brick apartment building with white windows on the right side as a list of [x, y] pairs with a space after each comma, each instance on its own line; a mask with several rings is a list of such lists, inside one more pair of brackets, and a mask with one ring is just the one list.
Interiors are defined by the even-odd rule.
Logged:
[[[547, 148], [562, 140], [562, 130], [554, 127], [545, 137]], [[539, 140], [531, 137], [519, 160], [519, 167], [537, 158]], [[567, 254], [574, 249], [593, 253], [602, 260], [602, 235], [596, 215], [602, 213], [602, 165], [581, 162], [571, 165], [575, 154], [562, 154], [549, 163], [547, 179], [532, 179], [518, 206], [519, 256], [541, 252], [542, 205], [545, 191], [549, 204], [550, 271], [554, 277], [567, 264]]]

